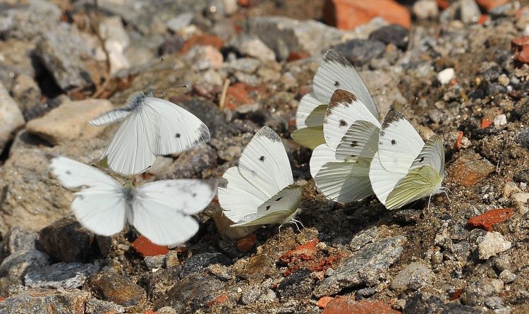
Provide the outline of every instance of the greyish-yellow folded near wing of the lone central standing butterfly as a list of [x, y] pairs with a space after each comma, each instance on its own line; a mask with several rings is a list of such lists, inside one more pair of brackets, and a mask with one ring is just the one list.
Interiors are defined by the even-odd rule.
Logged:
[[258, 226], [262, 224], [282, 224], [294, 215], [301, 202], [303, 188], [295, 184], [287, 186], [262, 203], [257, 212], [241, 217], [231, 227]]

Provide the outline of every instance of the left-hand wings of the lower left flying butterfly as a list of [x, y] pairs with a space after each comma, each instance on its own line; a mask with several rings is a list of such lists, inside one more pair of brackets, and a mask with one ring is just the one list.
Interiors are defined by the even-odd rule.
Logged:
[[50, 170], [65, 188], [87, 187], [75, 193], [77, 198], [71, 205], [83, 227], [102, 236], [123, 229], [126, 206], [118, 182], [94, 167], [66, 157], [51, 159]]

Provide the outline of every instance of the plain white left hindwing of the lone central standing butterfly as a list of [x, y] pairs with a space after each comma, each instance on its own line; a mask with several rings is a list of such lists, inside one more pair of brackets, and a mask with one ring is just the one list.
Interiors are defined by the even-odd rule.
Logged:
[[237, 222], [242, 217], [257, 214], [257, 207], [264, 203], [268, 196], [251, 185], [239, 174], [237, 167], [231, 167], [222, 176], [228, 181], [226, 188], [218, 188], [219, 204], [224, 215]]

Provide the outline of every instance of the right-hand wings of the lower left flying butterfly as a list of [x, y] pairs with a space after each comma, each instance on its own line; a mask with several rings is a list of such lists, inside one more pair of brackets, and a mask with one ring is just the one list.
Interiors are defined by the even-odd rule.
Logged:
[[165, 246], [188, 241], [198, 231], [190, 217], [203, 210], [215, 195], [210, 181], [182, 179], [147, 183], [136, 190], [130, 224], [152, 243]]

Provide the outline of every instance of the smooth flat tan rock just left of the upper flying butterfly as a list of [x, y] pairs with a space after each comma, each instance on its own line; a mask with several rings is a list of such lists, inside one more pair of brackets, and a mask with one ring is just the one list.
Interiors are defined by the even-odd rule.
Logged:
[[90, 125], [90, 120], [112, 109], [107, 99], [85, 99], [65, 102], [26, 125], [35, 134], [53, 145], [69, 140], [95, 138], [104, 128]]

